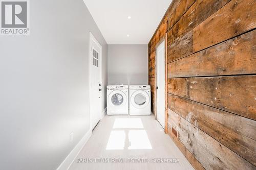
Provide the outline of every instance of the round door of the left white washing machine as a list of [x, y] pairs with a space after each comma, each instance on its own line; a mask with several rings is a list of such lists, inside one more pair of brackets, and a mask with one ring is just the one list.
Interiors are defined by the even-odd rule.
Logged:
[[127, 96], [120, 90], [112, 91], [108, 96], [108, 102], [111, 106], [123, 106], [126, 104]]

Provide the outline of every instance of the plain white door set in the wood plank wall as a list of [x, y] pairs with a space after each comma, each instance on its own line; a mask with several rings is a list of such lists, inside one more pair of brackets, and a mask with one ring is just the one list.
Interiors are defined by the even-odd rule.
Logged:
[[157, 120], [165, 126], [165, 42], [157, 47]]

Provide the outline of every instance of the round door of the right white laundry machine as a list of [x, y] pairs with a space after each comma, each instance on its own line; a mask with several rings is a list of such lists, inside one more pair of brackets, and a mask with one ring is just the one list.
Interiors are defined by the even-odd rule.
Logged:
[[131, 103], [137, 109], [143, 109], [150, 103], [150, 96], [143, 90], [137, 90], [131, 96]]

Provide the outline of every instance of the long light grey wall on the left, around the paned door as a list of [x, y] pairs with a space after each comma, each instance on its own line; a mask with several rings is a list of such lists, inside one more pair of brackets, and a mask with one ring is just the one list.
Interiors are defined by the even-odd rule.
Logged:
[[89, 31], [107, 84], [107, 45], [82, 0], [30, 9], [30, 36], [0, 37], [0, 169], [56, 169], [88, 132]]

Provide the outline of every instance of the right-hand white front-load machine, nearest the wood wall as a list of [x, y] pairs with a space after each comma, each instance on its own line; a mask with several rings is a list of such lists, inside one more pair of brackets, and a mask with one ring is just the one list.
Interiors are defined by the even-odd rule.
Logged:
[[151, 86], [133, 85], [130, 92], [130, 115], [151, 114]]

